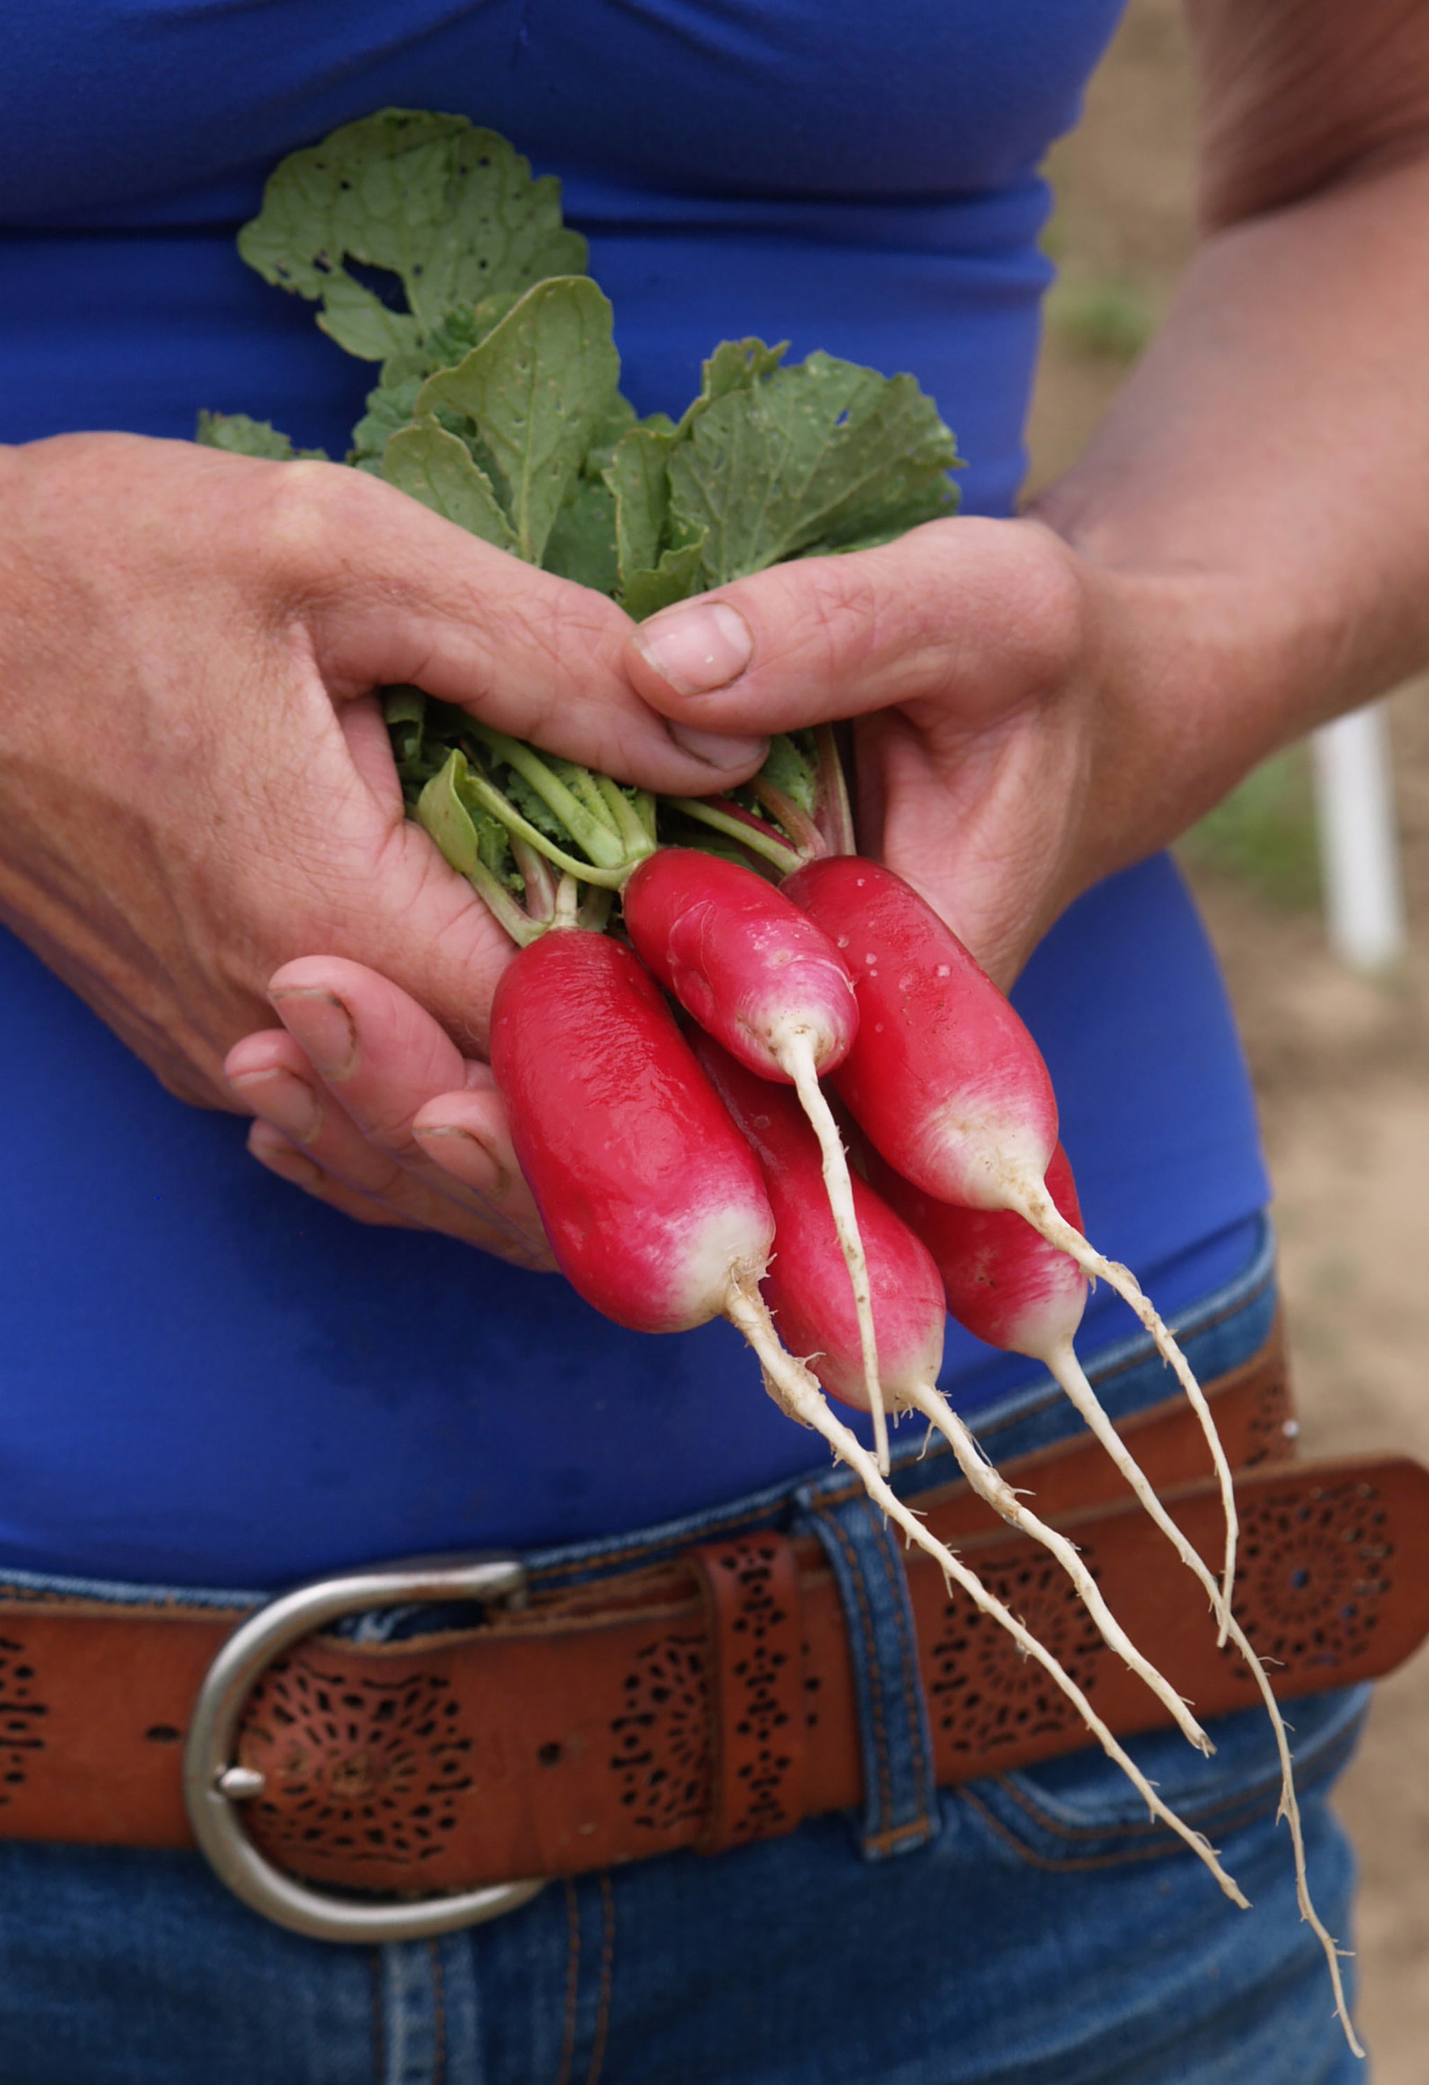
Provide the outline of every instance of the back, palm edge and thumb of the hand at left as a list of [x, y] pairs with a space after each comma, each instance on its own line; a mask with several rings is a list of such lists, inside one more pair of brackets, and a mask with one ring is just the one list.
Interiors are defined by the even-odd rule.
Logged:
[[620, 780], [745, 780], [672, 730], [628, 617], [363, 471], [83, 434], [0, 450], [0, 917], [181, 1099], [321, 949], [480, 1055], [511, 949], [403, 817], [373, 688], [413, 682]]

